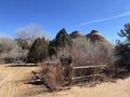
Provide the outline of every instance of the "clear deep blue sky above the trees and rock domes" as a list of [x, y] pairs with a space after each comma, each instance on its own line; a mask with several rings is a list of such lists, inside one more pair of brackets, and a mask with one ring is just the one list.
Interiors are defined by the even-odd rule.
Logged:
[[109, 41], [130, 23], [130, 0], [0, 0], [0, 34], [15, 37], [18, 27], [40, 25], [54, 38], [63, 27], [70, 33], [99, 30]]

